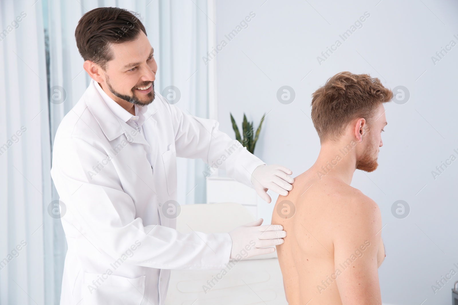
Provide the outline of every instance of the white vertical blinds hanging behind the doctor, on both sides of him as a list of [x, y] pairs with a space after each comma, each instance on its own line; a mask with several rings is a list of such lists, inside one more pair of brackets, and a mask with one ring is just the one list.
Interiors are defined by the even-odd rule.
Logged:
[[[156, 91], [175, 86], [178, 107], [209, 116], [207, 0], [0, 0], [0, 305], [60, 301], [66, 241], [48, 212], [59, 199], [52, 144], [89, 84], [74, 35], [81, 16], [99, 6], [139, 13], [158, 62]], [[203, 162], [179, 159], [179, 202], [206, 202]]]

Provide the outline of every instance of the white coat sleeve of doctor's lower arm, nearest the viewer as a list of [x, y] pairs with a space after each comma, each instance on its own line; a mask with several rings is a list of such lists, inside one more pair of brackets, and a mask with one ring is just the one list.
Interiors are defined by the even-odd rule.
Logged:
[[[78, 251], [92, 251], [94, 256], [105, 252], [114, 260], [124, 255], [131, 264], [158, 269], [224, 268], [232, 248], [228, 233], [184, 234], [166, 226], [143, 225], [113, 162], [94, 172], [93, 165], [107, 157], [95, 144], [56, 135], [51, 176], [66, 206], [61, 218], [65, 236], [89, 241], [87, 249]], [[138, 246], [135, 254], [126, 257], [132, 245]]]

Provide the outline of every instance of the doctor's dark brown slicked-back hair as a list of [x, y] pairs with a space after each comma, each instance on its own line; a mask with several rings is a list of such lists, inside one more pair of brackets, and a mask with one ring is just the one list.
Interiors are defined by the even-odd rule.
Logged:
[[76, 46], [84, 60], [106, 70], [114, 58], [110, 46], [136, 39], [140, 31], [147, 35], [140, 15], [119, 7], [98, 7], [84, 14], [75, 30]]

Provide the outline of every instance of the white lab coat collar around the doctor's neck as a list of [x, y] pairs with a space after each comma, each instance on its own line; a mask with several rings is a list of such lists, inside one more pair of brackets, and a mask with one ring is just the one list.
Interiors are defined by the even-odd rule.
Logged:
[[[129, 126], [129, 124], [123, 122], [110, 110], [110, 108], [102, 99], [102, 96], [100, 96], [98, 93], [94, 82], [94, 80], [91, 80], [91, 83], [89, 84], [89, 87], [87, 87], [87, 90], [84, 94], [86, 104], [87, 108], [100, 125], [100, 128], [102, 128], [102, 131], [104, 132], [107, 139], [112, 141], [119, 137], [121, 134], [125, 134], [129, 142], [141, 143], [149, 147], [148, 142], [145, 140], [142, 134]], [[153, 117], [154, 113], [157, 111], [156, 102], [153, 101], [151, 104], [144, 107], [147, 107], [147, 110], [144, 113], [145, 122], [147, 120], [153, 120], [154, 124], [156, 124], [157, 121]]]

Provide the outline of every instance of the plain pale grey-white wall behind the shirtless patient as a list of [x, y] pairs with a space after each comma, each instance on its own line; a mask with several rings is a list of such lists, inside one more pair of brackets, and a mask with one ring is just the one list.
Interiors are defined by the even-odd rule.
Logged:
[[[255, 155], [267, 164], [289, 167], [295, 177], [318, 155], [320, 144], [309, 118], [311, 94], [329, 77], [341, 71], [369, 73], [391, 89], [407, 87], [407, 103], [385, 105], [388, 125], [382, 134], [379, 168], [355, 172], [352, 186], [382, 210], [387, 251], [379, 269], [383, 301], [451, 304], [450, 289], [458, 274], [436, 294], [431, 285], [451, 269], [458, 272], [453, 265], [458, 266], [458, 243], [453, 240], [458, 161], [436, 179], [431, 171], [450, 155], [458, 157], [454, 151], [458, 151], [458, 45], [436, 64], [431, 57], [451, 40], [458, 43], [458, 3], [264, 1], [216, 2], [217, 42], [227, 42], [213, 59], [218, 69], [220, 129], [234, 136], [229, 112], [239, 125], [245, 112], [256, 126], [269, 112]], [[251, 11], [256, 16], [247, 28], [231, 41], [224, 37]], [[365, 12], [370, 16], [362, 27], [343, 41], [339, 34]], [[336, 40], [342, 45], [320, 65], [317, 56]], [[276, 97], [284, 85], [296, 94], [289, 105]], [[399, 199], [410, 206], [404, 219], [391, 212]], [[272, 208], [266, 203], [261, 217], [269, 221]]]

